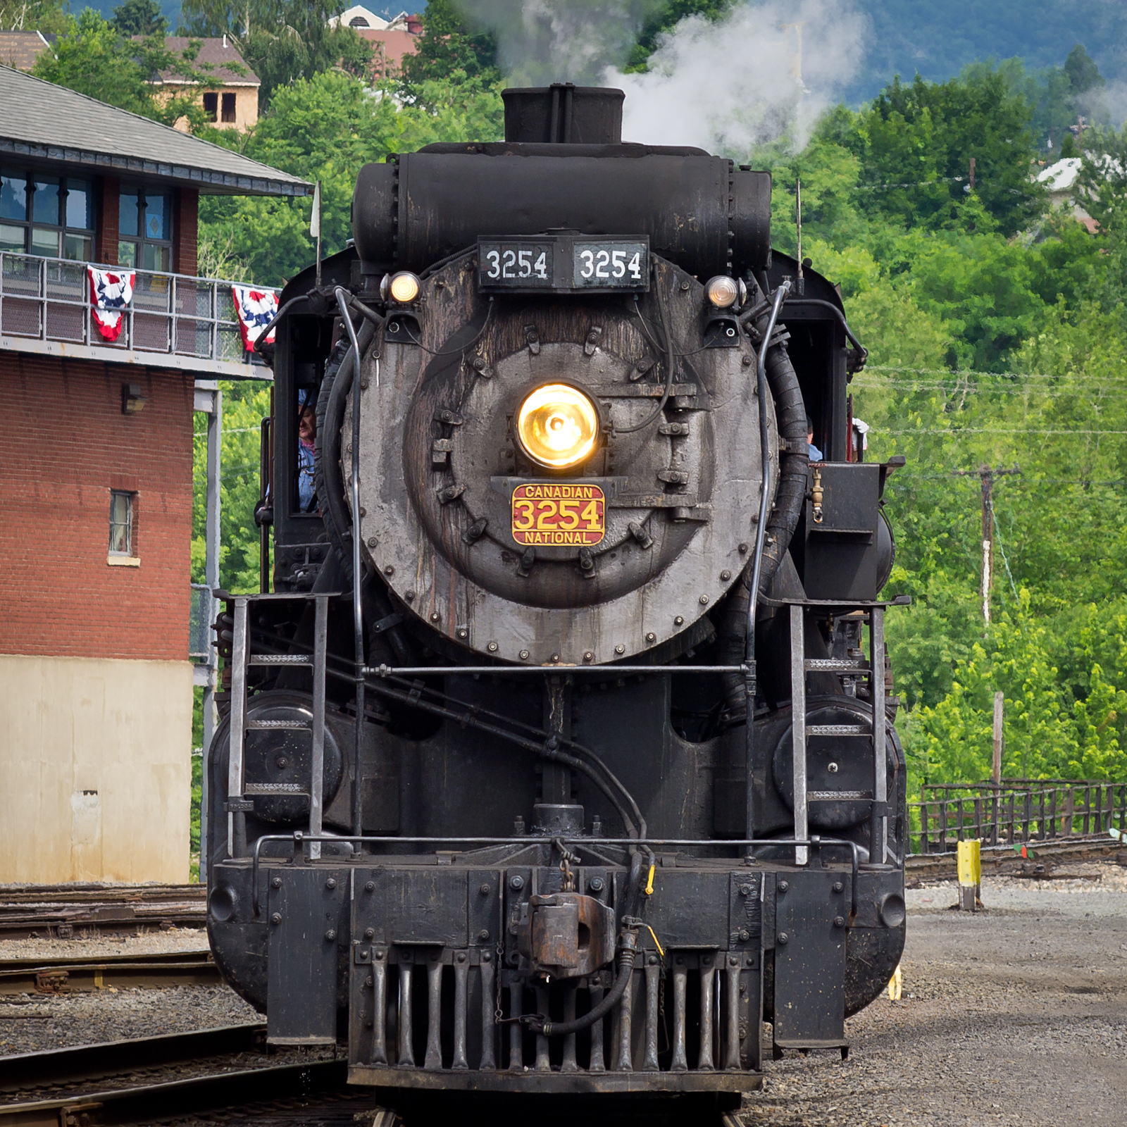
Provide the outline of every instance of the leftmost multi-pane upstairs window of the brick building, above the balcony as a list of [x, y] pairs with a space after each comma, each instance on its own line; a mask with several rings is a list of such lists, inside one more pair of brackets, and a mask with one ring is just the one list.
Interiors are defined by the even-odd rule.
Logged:
[[88, 261], [94, 256], [90, 181], [0, 170], [0, 250]]

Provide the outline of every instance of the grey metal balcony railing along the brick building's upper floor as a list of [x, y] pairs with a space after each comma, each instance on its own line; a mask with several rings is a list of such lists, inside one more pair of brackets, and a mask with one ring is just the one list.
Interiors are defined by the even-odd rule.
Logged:
[[[107, 340], [90, 316], [87, 265], [0, 251], [3, 347], [23, 349], [26, 345], [29, 352], [50, 355], [87, 355], [216, 375], [270, 378], [269, 369], [242, 346], [230, 282], [132, 270], [133, 300], [123, 310], [125, 323], [116, 340]], [[133, 357], [132, 353], [143, 353], [144, 357]]]

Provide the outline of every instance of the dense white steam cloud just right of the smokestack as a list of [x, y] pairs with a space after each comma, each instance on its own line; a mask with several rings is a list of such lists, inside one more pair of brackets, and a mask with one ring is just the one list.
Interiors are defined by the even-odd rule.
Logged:
[[716, 24], [683, 19], [648, 72], [609, 69], [603, 82], [627, 92], [624, 141], [740, 156], [784, 140], [798, 151], [857, 72], [864, 30], [831, 0], [740, 5]]

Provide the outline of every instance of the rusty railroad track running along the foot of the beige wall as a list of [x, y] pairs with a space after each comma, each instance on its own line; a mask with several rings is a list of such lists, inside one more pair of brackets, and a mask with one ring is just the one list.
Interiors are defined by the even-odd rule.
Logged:
[[0, 940], [204, 928], [206, 900], [202, 885], [25, 885], [0, 895]]

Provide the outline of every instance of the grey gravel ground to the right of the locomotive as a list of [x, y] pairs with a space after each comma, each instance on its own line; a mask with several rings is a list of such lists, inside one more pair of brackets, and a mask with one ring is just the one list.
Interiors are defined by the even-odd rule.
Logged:
[[903, 999], [846, 1023], [852, 1049], [766, 1065], [747, 1127], [1088, 1127], [1127, 1099], [1127, 870], [909, 890]]

